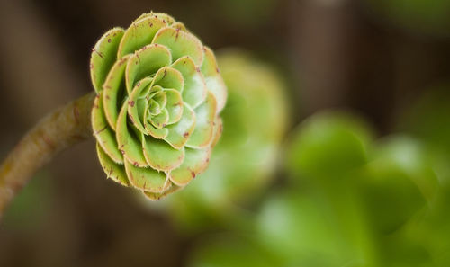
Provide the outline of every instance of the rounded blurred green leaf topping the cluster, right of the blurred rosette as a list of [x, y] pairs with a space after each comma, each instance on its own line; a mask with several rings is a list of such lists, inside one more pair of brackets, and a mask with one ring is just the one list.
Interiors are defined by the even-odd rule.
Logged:
[[287, 167], [305, 179], [345, 174], [365, 165], [372, 135], [365, 122], [351, 114], [313, 115], [295, 130]]

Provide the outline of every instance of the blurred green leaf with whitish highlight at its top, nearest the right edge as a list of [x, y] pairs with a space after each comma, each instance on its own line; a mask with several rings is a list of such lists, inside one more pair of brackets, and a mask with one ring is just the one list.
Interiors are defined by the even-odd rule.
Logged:
[[436, 174], [414, 139], [380, 142], [365, 170], [362, 196], [371, 224], [381, 233], [398, 229], [435, 198]]

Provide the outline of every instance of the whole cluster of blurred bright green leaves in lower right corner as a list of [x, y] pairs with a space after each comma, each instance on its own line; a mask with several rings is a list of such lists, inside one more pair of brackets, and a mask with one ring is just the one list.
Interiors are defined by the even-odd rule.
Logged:
[[247, 229], [200, 246], [192, 266], [449, 266], [450, 194], [427, 144], [374, 140], [349, 113], [313, 115], [290, 138], [290, 182]]

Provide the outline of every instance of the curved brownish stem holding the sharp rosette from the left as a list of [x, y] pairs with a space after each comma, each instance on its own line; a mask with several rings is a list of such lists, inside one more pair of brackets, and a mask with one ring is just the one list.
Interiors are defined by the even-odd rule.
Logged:
[[88, 93], [49, 113], [31, 129], [0, 165], [0, 217], [31, 176], [67, 147], [92, 136]]

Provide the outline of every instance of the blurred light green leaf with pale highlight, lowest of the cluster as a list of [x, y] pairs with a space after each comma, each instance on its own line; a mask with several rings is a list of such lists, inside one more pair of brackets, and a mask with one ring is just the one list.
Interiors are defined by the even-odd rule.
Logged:
[[278, 265], [359, 266], [365, 248], [346, 238], [348, 228], [332, 206], [315, 192], [279, 192], [266, 200], [257, 218], [258, 240], [278, 255]]

